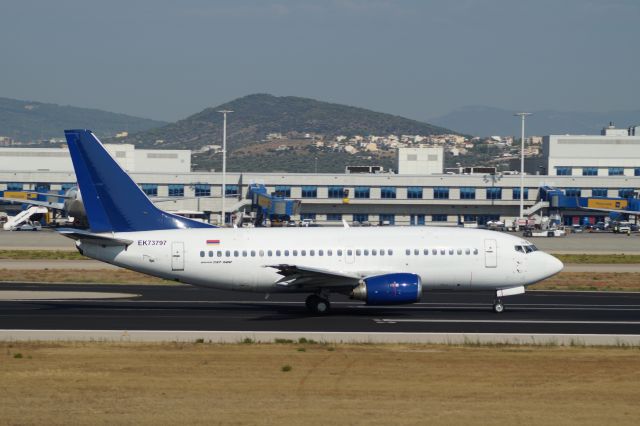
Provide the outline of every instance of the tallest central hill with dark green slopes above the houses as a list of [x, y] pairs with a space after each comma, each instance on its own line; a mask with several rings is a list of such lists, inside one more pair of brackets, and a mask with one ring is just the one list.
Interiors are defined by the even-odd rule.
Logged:
[[269, 133], [316, 133], [324, 135], [325, 139], [356, 134], [456, 133], [431, 124], [363, 108], [293, 96], [255, 94], [215, 108], [207, 108], [164, 127], [130, 135], [124, 142], [145, 147], [188, 149], [219, 145], [222, 139], [222, 115], [218, 111], [223, 109], [234, 111], [228, 115], [227, 121], [229, 150], [259, 143]]

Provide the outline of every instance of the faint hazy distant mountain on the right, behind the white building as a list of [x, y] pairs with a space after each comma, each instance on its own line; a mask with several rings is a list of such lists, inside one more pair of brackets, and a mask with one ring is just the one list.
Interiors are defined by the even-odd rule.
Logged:
[[[487, 106], [466, 106], [429, 121], [475, 136], [519, 135], [520, 118], [513, 116], [515, 112], [517, 111]], [[611, 121], [621, 128], [640, 124], [640, 110], [609, 112], [540, 110], [528, 112], [532, 112], [533, 115], [527, 118], [525, 130], [527, 135], [536, 136], [567, 133], [600, 134], [600, 130]]]

